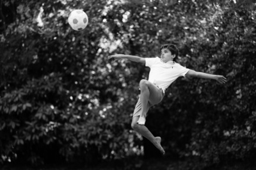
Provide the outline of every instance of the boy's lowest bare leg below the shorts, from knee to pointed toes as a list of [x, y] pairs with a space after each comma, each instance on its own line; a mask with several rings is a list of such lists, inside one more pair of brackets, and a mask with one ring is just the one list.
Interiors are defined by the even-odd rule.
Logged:
[[135, 116], [132, 118], [132, 128], [146, 137], [158, 150], [161, 151], [161, 153], [164, 155], [165, 151], [161, 146], [161, 137], [154, 137], [154, 135], [148, 130], [145, 125], [138, 125], [137, 121], [139, 120], [140, 116]]

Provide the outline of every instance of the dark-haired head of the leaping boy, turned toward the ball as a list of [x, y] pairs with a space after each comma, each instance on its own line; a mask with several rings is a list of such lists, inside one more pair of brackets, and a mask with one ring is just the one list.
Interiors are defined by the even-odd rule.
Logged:
[[179, 49], [175, 45], [169, 43], [162, 45], [160, 52], [164, 62], [175, 61], [179, 55]]

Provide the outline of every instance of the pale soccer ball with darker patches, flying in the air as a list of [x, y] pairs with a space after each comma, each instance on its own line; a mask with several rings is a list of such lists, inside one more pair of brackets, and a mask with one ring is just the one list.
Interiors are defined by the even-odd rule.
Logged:
[[83, 30], [88, 24], [88, 17], [83, 10], [74, 10], [68, 16], [68, 24], [76, 31]]

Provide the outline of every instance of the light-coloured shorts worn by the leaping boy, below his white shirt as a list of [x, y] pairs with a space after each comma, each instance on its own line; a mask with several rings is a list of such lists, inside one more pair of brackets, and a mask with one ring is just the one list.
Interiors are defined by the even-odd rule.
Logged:
[[[148, 104], [147, 104], [147, 112], [150, 107], [152, 107], [153, 105], [159, 104], [163, 100], [163, 97], [164, 97], [163, 89], [156, 86], [156, 84], [151, 83], [150, 95], [149, 95]], [[141, 102], [139, 98], [135, 106], [132, 118], [140, 115], [141, 115]]]

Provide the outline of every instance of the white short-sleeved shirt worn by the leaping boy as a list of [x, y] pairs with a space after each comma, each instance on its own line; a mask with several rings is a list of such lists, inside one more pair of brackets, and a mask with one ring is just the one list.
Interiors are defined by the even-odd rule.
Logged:
[[188, 68], [178, 63], [164, 63], [160, 58], [145, 58], [146, 66], [150, 67], [148, 81], [165, 91], [180, 76], [185, 76]]

